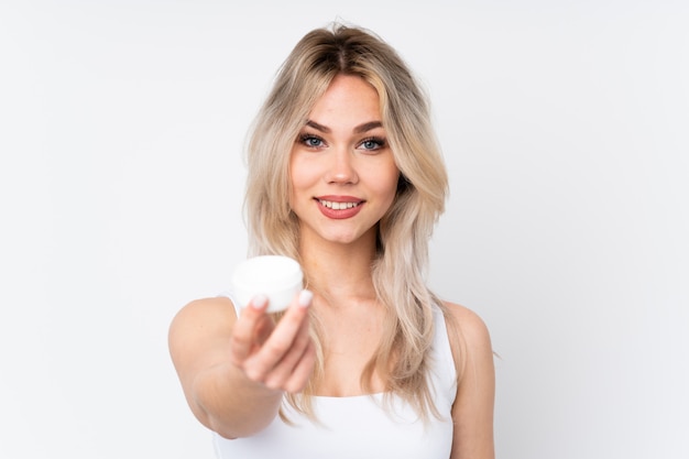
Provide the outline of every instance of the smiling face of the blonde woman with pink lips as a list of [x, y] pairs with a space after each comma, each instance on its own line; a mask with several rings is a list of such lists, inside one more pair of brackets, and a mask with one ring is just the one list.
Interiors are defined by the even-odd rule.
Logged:
[[292, 149], [289, 174], [289, 206], [299, 218], [303, 242], [375, 241], [400, 171], [371, 85], [349, 75], [332, 80]]

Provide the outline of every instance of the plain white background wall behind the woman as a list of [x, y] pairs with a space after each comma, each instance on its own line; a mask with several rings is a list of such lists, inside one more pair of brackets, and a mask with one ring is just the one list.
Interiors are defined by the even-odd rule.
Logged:
[[244, 133], [337, 18], [431, 96], [429, 282], [491, 329], [499, 457], [689, 457], [688, 3], [1, 3], [0, 457], [212, 457], [167, 326], [244, 256]]

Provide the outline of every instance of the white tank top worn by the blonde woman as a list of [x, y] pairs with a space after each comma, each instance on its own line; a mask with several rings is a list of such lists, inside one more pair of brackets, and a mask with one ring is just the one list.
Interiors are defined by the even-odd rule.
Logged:
[[[226, 296], [229, 296], [226, 294]], [[431, 348], [431, 393], [441, 419], [430, 415], [424, 424], [400, 397], [394, 411], [383, 409], [382, 394], [349, 397], [314, 397], [320, 424], [295, 412], [283, 411], [295, 425], [277, 416], [256, 435], [229, 440], [212, 434], [218, 459], [447, 459], [452, 446], [451, 408], [457, 393], [457, 371], [442, 313], [435, 314]], [[379, 403], [376, 403], [379, 402]]]

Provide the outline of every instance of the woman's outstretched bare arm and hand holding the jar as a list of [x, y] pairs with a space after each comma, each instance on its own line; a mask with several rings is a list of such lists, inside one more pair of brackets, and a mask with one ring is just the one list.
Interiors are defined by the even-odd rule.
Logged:
[[277, 325], [264, 299], [254, 303], [238, 318], [228, 298], [199, 299], [169, 327], [171, 357], [192, 412], [226, 438], [266, 427], [283, 393], [300, 391], [314, 365], [310, 295], [295, 298]]

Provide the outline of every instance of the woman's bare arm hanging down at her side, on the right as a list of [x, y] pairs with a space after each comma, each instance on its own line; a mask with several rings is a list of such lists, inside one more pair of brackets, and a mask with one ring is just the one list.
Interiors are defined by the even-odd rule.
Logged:
[[473, 312], [447, 306], [455, 325], [448, 331], [458, 370], [451, 459], [494, 459], [495, 368], [490, 334]]

